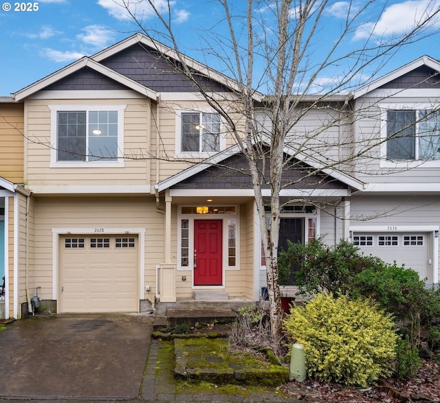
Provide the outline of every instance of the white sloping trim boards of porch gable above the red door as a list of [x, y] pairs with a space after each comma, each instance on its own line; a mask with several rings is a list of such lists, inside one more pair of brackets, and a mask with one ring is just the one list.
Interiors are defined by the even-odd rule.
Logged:
[[[213, 155], [212, 157], [209, 157], [208, 159], [202, 161], [201, 163], [192, 165], [192, 167], [187, 168], [184, 171], [178, 172], [177, 174], [170, 176], [170, 178], [165, 179], [162, 182], [159, 182], [157, 185], [155, 185], [156, 190], [157, 192], [162, 192], [165, 189], [169, 189], [170, 187], [177, 185], [177, 183], [180, 183], [181, 181], [184, 181], [185, 179], [188, 179], [191, 176], [194, 176], [195, 174], [198, 174], [199, 172], [202, 172], [203, 170], [210, 168], [212, 165], [219, 164], [222, 161], [225, 161], [225, 159], [232, 157], [235, 154], [239, 154], [239, 152], [241, 152], [241, 147], [239, 146], [239, 144], [236, 144], [235, 146], [232, 146], [227, 150], [224, 150], [222, 152], [219, 152], [218, 154]], [[331, 168], [325, 168], [325, 166], [323, 166], [322, 163], [320, 163], [317, 160], [314, 161], [314, 159], [306, 157], [305, 154], [303, 153], [294, 154], [293, 148], [285, 147], [284, 152], [289, 155], [294, 155], [295, 158], [298, 159], [298, 161], [311, 166], [311, 168], [320, 170], [320, 172], [323, 172], [326, 175], [333, 177], [334, 179], [338, 179], [338, 181], [341, 181], [342, 183], [352, 187], [353, 189], [362, 190], [366, 186], [366, 184], [363, 183], [362, 181], [359, 181], [358, 179], [355, 179], [353, 178], [353, 176], [345, 174], [344, 172], [340, 172], [338, 170], [334, 170]]]

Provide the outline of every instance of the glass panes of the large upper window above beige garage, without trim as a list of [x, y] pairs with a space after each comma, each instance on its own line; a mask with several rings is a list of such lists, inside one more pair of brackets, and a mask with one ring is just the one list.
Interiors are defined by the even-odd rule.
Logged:
[[118, 111], [58, 111], [57, 161], [116, 161]]

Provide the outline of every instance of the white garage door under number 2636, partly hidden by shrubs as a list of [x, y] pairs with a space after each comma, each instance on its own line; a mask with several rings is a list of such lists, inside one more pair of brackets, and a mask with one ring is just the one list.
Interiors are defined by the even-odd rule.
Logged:
[[428, 277], [427, 233], [354, 233], [353, 244], [366, 255], [375, 255], [388, 263], [397, 262]]

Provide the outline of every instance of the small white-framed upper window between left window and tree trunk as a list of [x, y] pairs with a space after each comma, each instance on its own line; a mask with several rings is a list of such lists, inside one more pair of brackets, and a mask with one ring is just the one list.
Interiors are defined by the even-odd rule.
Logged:
[[225, 148], [223, 124], [213, 111], [177, 111], [177, 154], [206, 157]]

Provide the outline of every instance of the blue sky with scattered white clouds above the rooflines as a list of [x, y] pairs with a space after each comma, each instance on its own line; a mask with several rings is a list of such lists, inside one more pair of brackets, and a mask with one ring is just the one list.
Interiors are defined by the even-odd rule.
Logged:
[[[10, 96], [75, 60], [91, 56], [138, 32], [139, 28], [118, 5], [119, 1], [0, 0], [0, 96]], [[154, 30], [157, 20], [151, 16], [146, 3], [142, 0], [129, 1], [133, 3], [131, 10], [142, 18], [144, 27]], [[165, 2], [155, 0], [159, 9], [164, 7]], [[244, 0], [231, 1], [234, 2], [234, 5], [245, 4]], [[259, 5], [261, 15], [268, 13], [273, 3], [273, 0], [267, 0]], [[401, 34], [420, 18], [421, 10], [427, 6], [431, 10], [440, 7], [440, 0], [352, 0], [351, 12], [360, 10], [366, 3], [373, 3], [375, 15], [365, 14], [364, 23], [349, 34], [344, 45], [347, 49], [359, 47], [366, 38], [379, 41]], [[215, 25], [219, 21], [218, 3], [212, 0], [173, 0], [170, 5], [175, 36], [184, 53], [217, 69], [217, 61], [202, 51], [204, 45], [201, 45], [200, 35], [203, 36], [202, 30], [208, 27], [208, 23]], [[336, 27], [340, 27], [347, 17], [347, 10], [347, 1], [331, 1], [325, 11], [325, 25], [319, 32], [322, 43], [331, 43]], [[240, 19], [234, 21], [236, 27], [243, 22]], [[267, 21], [270, 21], [269, 17]], [[377, 74], [387, 73], [423, 55], [439, 60], [440, 24], [437, 20], [433, 21], [426, 34], [428, 36], [423, 40], [393, 55]]]

